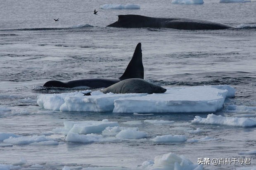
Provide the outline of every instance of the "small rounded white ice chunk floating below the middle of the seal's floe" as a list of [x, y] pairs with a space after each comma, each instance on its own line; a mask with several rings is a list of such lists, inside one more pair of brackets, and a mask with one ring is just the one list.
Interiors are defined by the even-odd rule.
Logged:
[[147, 137], [145, 132], [140, 132], [137, 129], [124, 129], [121, 130], [117, 135], [116, 138], [118, 139], [140, 139]]

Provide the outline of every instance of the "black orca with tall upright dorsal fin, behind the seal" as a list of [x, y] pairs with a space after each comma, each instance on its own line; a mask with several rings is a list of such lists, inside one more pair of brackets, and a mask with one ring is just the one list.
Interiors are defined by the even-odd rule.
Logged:
[[68, 82], [62, 82], [59, 80], [47, 81], [44, 87], [63, 87], [63, 88], [73, 88], [73, 87], [90, 87], [90, 88], [100, 88], [109, 87], [121, 80], [128, 78], [140, 78], [144, 79], [144, 67], [142, 64], [142, 50], [141, 43], [138, 43], [133, 57], [130, 60], [126, 70], [120, 78], [85, 78], [78, 80], [70, 80]]

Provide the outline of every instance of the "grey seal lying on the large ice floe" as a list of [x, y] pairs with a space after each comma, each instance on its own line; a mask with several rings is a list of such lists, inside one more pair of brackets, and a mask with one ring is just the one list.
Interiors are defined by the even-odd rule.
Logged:
[[103, 90], [103, 93], [164, 93], [166, 89], [159, 86], [154, 85], [152, 83], [147, 82], [144, 79], [140, 78], [129, 78], [126, 80], [122, 80], [114, 85], [111, 85]]

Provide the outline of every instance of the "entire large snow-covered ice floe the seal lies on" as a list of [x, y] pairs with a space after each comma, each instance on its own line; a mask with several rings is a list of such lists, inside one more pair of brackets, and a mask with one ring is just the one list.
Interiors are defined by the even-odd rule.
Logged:
[[235, 96], [229, 85], [166, 87], [163, 94], [103, 94], [83, 92], [41, 94], [39, 106], [55, 111], [114, 112], [114, 113], [180, 113], [216, 112], [226, 98]]

